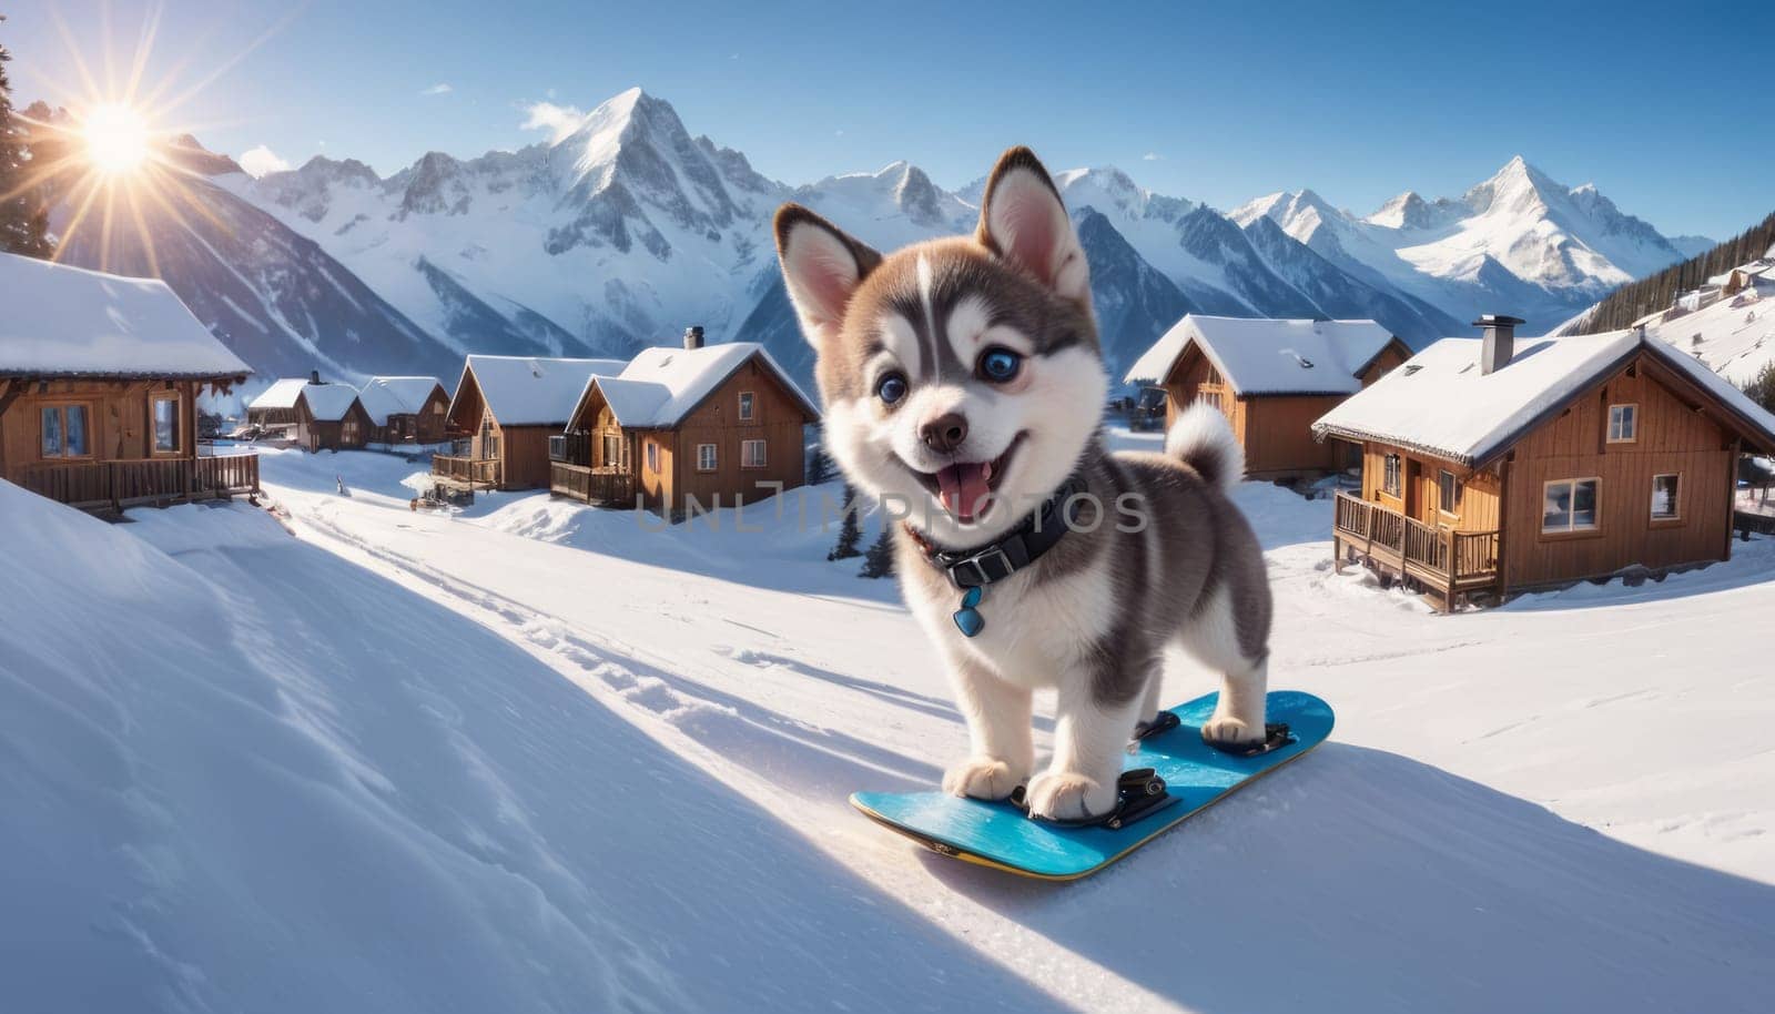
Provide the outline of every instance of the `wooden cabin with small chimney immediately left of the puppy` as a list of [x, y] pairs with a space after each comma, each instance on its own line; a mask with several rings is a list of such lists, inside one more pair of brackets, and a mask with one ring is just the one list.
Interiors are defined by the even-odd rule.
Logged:
[[664, 517], [731, 508], [802, 485], [802, 428], [820, 412], [751, 341], [643, 350], [586, 384], [556, 440], [548, 488]]

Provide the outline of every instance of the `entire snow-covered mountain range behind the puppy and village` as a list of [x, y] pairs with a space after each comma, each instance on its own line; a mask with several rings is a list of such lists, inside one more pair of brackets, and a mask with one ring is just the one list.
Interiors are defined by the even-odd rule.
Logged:
[[[765, 343], [809, 380], [776, 270], [776, 206], [801, 201], [895, 249], [971, 231], [980, 197], [980, 183], [948, 192], [907, 162], [772, 181], [641, 89], [556, 140], [433, 151], [387, 178], [314, 158], [252, 179], [188, 149], [186, 204], [217, 211], [186, 218], [227, 229], [193, 245], [202, 268], [176, 266], [169, 282], [273, 373], [447, 375], [463, 352], [627, 355], [699, 323]], [[1567, 190], [1521, 160], [1461, 199], [1408, 192], [1367, 218], [1310, 190], [1227, 215], [1113, 167], [1056, 183], [1092, 259], [1111, 366], [1187, 311], [1372, 316], [1415, 345], [1480, 311], [1551, 323], [1681, 256], [1596, 188]]]

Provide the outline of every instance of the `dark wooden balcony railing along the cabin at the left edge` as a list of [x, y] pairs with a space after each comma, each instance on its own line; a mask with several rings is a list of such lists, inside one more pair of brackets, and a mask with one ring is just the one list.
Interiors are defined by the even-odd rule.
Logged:
[[122, 510], [259, 492], [259, 455], [36, 463], [14, 481], [82, 510]]

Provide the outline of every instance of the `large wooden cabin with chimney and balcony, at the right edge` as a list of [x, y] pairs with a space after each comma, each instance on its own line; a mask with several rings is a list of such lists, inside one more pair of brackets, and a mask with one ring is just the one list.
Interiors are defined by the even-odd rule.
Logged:
[[1361, 492], [1335, 503], [1338, 566], [1361, 559], [1450, 609], [1731, 556], [1738, 458], [1775, 451], [1775, 417], [1644, 330], [1480, 323], [1314, 426], [1361, 446]]

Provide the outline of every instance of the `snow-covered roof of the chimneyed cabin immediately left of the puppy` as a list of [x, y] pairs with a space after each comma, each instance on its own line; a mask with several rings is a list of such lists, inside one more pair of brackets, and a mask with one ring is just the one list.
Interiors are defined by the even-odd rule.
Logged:
[[586, 384], [586, 391], [596, 387], [611, 407], [611, 414], [623, 426], [669, 428], [682, 423], [692, 408], [701, 405], [712, 391], [753, 357], [776, 373], [777, 382], [801, 401], [809, 416], [820, 416], [813, 400], [756, 341], [730, 341], [703, 348], [644, 348], [614, 380], [593, 376]]

